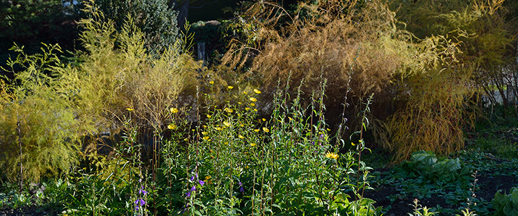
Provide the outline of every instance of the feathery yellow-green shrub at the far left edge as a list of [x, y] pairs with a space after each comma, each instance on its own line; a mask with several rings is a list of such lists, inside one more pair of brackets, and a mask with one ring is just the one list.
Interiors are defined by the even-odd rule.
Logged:
[[[11, 84], [0, 83], [0, 167], [9, 181], [16, 181], [20, 165], [23, 178], [67, 174], [77, 163], [78, 138], [83, 131], [68, 98], [56, 91], [62, 67], [57, 45], [27, 55], [23, 47], [8, 65], [22, 68]], [[22, 145], [22, 149], [19, 148]], [[20, 161], [22, 154], [22, 161]]]

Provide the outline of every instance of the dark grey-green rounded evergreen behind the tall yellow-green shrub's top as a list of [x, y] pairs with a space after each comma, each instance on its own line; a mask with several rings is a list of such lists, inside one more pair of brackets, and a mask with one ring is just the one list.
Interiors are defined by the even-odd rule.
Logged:
[[169, 8], [167, 0], [97, 0], [95, 5], [106, 19], [122, 30], [127, 17], [132, 17], [135, 26], [143, 32], [145, 47], [153, 56], [174, 46], [179, 37], [177, 12]]

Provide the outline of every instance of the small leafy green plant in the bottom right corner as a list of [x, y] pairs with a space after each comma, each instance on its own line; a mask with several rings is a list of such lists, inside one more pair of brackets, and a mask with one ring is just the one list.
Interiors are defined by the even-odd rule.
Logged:
[[500, 193], [501, 190], [494, 194], [491, 201], [493, 208], [496, 209], [494, 215], [516, 216], [518, 215], [518, 188], [511, 188], [509, 194]]

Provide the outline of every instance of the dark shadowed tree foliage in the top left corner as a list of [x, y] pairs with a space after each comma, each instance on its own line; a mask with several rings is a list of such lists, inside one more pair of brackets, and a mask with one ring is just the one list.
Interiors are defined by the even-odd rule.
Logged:
[[41, 43], [74, 49], [77, 11], [70, 0], [0, 0], [1, 64], [13, 56], [9, 49], [15, 43], [28, 53], [39, 51]]

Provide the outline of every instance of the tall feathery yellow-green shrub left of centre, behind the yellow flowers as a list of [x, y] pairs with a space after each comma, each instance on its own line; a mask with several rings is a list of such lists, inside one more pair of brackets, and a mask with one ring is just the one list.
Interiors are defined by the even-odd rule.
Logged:
[[[149, 56], [131, 17], [116, 32], [93, 3], [86, 8], [91, 18], [79, 22], [86, 51], [81, 65], [63, 73], [63, 90], [70, 92], [79, 118], [96, 126], [92, 133], [121, 128], [129, 118], [140, 133], [160, 133], [169, 124], [170, 108], [195, 103], [190, 96], [201, 64], [182, 51], [180, 40], [156, 58]], [[180, 98], [181, 92], [187, 94]]]

